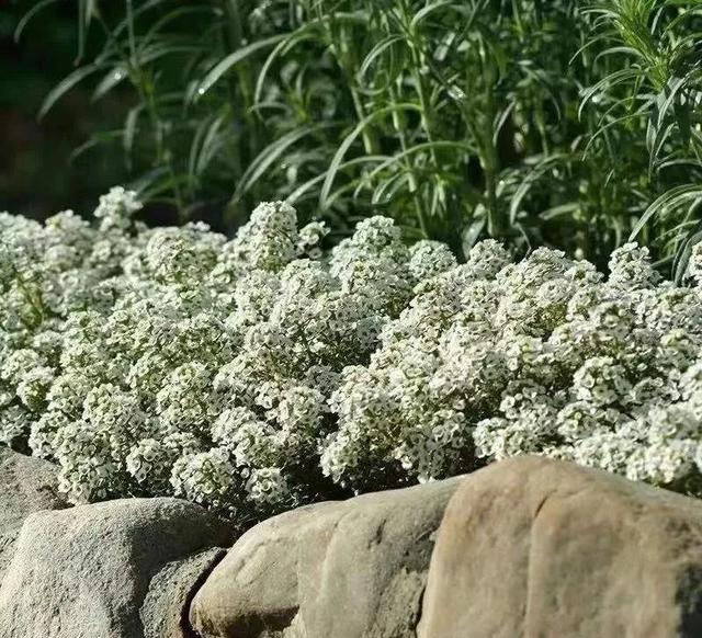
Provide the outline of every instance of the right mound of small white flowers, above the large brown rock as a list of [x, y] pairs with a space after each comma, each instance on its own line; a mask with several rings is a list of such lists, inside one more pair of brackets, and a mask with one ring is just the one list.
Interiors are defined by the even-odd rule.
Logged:
[[324, 471], [364, 489], [369, 467], [421, 481], [531, 453], [699, 492], [702, 290], [661, 283], [635, 244], [609, 271], [486, 241], [419, 284], [343, 371]]

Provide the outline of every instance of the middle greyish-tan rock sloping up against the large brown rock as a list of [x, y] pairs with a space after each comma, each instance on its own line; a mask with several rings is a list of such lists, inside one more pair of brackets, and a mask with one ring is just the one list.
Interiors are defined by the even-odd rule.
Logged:
[[461, 478], [301, 508], [247, 532], [195, 594], [212, 637], [409, 638]]

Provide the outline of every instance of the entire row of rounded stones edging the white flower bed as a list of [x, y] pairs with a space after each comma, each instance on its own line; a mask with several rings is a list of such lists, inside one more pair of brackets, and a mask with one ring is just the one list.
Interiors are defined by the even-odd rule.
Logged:
[[702, 636], [702, 501], [540, 457], [235, 539], [176, 499], [59, 509], [0, 453], [7, 638]]

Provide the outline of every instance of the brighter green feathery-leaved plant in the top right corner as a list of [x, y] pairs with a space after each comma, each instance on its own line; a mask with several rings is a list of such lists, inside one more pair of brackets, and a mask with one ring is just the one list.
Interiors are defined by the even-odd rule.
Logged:
[[652, 242], [664, 262], [673, 262], [679, 280], [702, 228], [702, 8], [679, 0], [616, 0], [591, 14], [603, 68], [581, 103], [584, 109], [598, 102], [590, 144], [604, 138], [611, 163], [626, 148], [622, 140], [611, 143], [613, 132], [626, 132], [639, 152], [645, 149], [630, 240]]

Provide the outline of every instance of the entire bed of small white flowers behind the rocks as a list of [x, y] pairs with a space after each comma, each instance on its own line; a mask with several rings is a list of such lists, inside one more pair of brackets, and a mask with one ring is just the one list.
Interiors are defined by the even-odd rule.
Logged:
[[0, 215], [0, 442], [73, 502], [174, 494], [258, 517], [521, 453], [702, 490], [702, 255], [605, 278], [539, 249], [408, 247], [373, 217], [328, 254], [262, 204], [233, 240]]

